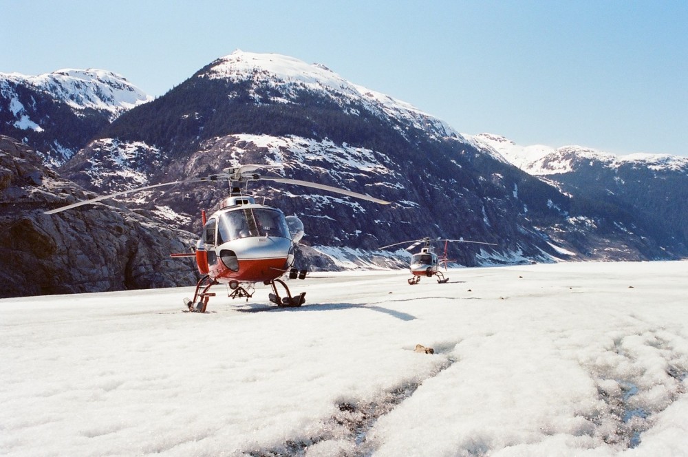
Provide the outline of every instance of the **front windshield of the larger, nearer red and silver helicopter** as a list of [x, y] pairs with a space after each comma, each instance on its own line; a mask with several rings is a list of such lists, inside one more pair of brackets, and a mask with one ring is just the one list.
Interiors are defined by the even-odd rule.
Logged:
[[228, 211], [219, 217], [217, 244], [264, 236], [291, 239], [283, 213], [268, 208], [244, 208]]

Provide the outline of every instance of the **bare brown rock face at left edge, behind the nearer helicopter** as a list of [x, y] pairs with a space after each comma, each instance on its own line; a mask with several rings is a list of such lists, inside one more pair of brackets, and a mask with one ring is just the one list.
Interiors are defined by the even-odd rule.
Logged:
[[0, 136], [0, 297], [195, 284], [188, 251], [194, 235], [123, 207], [94, 204], [86, 191], [43, 166], [34, 151]]

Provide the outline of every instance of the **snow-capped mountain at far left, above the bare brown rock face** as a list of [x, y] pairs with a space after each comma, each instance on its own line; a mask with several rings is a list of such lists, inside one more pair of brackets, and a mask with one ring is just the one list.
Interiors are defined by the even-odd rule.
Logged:
[[151, 99], [105, 70], [0, 73], [0, 134], [24, 140], [59, 165], [122, 112]]

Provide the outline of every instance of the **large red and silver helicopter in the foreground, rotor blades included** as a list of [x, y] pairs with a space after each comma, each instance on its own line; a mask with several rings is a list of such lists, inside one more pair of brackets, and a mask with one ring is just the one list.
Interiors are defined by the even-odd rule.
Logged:
[[[205, 211], [201, 211], [203, 231], [193, 248], [193, 253], [171, 254], [171, 257], [195, 257], [198, 271], [202, 275], [196, 284], [193, 300], [186, 298], [184, 304], [191, 312], [206, 312], [208, 300], [215, 296], [215, 293], [208, 290], [215, 284], [226, 284], [228, 297], [246, 297], [248, 301], [255, 291], [254, 284], [262, 282], [272, 286], [272, 293], [268, 296], [272, 303], [277, 306], [301, 306], [305, 303], [305, 292], [292, 296], [287, 285], [279, 278], [288, 273], [290, 279], [305, 279], [306, 270], [297, 270], [293, 266], [294, 246], [303, 237], [303, 223], [296, 216], [285, 217], [278, 208], [256, 203], [255, 198], [241, 192], [239, 184], [246, 183], [248, 188], [250, 181], [268, 180], [341, 193], [379, 204], [390, 202], [315, 182], [260, 176], [256, 173], [260, 169], [268, 168], [272, 167], [256, 164], [230, 167], [224, 169], [224, 173], [116, 192], [45, 211], [45, 214], [59, 213], [84, 204], [155, 187], [226, 179], [231, 189], [230, 195], [222, 201], [220, 209], [209, 217], [206, 217]], [[277, 284], [283, 286], [286, 297], [280, 297]]]

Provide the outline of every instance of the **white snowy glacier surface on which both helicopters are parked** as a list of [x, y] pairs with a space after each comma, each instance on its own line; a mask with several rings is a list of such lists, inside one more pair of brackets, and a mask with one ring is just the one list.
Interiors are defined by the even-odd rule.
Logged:
[[[314, 273], [0, 300], [8, 456], [688, 451], [688, 262]], [[413, 352], [416, 344], [435, 354]]]

